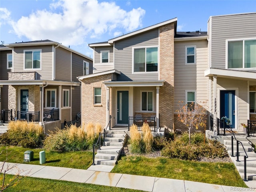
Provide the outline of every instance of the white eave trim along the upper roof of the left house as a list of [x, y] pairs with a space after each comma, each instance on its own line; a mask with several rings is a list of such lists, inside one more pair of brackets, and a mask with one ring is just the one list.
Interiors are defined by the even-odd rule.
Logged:
[[4, 44], [4, 46], [7, 46], [7, 47], [20, 47], [20, 46], [36, 46], [36, 45], [40, 45], [40, 46], [42, 46], [42, 45], [58, 45], [58, 46], [60, 46], [61, 48], [64, 48], [64, 49], [66, 49], [66, 50], [69, 50], [69, 51], [71, 51], [71, 52], [73, 52], [73, 53], [75, 53], [75, 54], [78, 54], [78, 55], [80, 55], [80, 56], [82, 56], [82, 57], [85, 57], [85, 58], [87, 58], [87, 59], [89, 59], [89, 60], [92, 60], [92, 58], [90, 58], [90, 57], [88, 57], [88, 56], [86, 56], [86, 55], [84, 55], [84, 54], [82, 54], [82, 53], [80, 53], [80, 52], [77, 52], [76, 50], [73, 50], [73, 49], [71, 49], [71, 48], [68, 48], [68, 47], [66, 47], [66, 46], [64, 46], [64, 45], [62, 45], [62, 44], [60, 44], [60, 43], [58, 43], [58, 42], [55, 42], [55, 41], [50, 41], [50, 42], [32, 42], [32, 43], [26, 43], [26, 42], [24, 42], [24, 43], [10, 43], [10, 44]]

